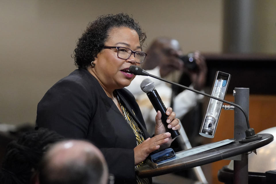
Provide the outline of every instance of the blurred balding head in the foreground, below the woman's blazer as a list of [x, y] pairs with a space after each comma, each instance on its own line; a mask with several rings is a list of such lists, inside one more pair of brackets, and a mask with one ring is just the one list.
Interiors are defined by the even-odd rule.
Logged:
[[93, 144], [81, 140], [56, 143], [43, 157], [37, 182], [40, 184], [106, 184], [108, 166]]

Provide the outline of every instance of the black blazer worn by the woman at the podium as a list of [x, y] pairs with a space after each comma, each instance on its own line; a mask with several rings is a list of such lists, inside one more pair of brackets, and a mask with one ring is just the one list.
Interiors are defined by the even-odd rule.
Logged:
[[[150, 137], [133, 95], [127, 89], [116, 92], [145, 139]], [[136, 183], [133, 130], [87, 70], [76, 69], [47, 91], [37, 106], [36, 123], [66, 138], [91, 141], [104, 154], [116, 183]]]

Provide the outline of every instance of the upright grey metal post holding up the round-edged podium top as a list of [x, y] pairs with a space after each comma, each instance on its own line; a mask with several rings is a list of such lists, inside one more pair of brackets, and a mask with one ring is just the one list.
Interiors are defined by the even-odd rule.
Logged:
[[[235, 88], [234, 90], [235, 104], [241, 106], [249, 115], [249, 88]], [[247, 129], [244, 114], [238, 108], [235, 108], [234, 120], [234, 139], [241, 140], [246, 137]], [[248, 184], [248, 155], [241, 154], [241, 160], [234, 160], [234, 183]]]

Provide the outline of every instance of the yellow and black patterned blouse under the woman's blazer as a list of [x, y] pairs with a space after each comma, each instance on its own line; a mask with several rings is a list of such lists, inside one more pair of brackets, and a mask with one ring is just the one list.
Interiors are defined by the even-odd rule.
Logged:
[[[131, 115], [129, 114], [129, 112], [127, 111], [126, 108], [124, 108], [124, 106], [122, 106], [120, 99], [118, 97], [118, 95], [116, 95], [118, 102], [122, 108], [123, 111], [123, 115], [124, 118], [127, 120], [127, 123], [131, 126], [135, 136], [136, 136], [136, 142], [137, 145], [141, 144], [144, 140], [145, 140], [145, 135], [143, 133], [143, 131], [139, 128], [138, 124], [135, 122], [135, 120], [133, 120], [133, 118], [131, 117]], [[137, 166], [135, 166], [135, 168], [141, 166], [143, 164], [143, 162], [141, 162], [140, 164], [138, 164]], [[149, 179], [147, 178], [140, 178], [136, 175], [136, 183], [137, 184], [150, 184]]]

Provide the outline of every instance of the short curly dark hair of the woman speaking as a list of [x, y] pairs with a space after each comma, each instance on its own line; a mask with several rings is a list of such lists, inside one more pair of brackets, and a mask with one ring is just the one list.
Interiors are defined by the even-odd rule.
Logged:
[[101, 47], [104, 46], [110, 30], [115, 27], [128, 27], [135, 30], [141, 46], [147, 38], [138, 22], [135, 22], [128, 14], [99, 16], [95, 21], [89, 22], [85, 32], [78, 38], [74, 56], [72, 56], [78, 68], [86, 69], [95, 60], [97, 54], [102, 50]]

